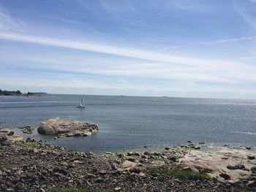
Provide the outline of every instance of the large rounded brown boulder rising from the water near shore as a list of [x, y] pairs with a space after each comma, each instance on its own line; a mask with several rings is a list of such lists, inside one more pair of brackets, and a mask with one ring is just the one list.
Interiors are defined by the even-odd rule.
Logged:
[[61, 137], [89, 136], [98, 131], [98, 126], [80, 120], [50, 118], [40, 123], [39, 134], [57, 135]]

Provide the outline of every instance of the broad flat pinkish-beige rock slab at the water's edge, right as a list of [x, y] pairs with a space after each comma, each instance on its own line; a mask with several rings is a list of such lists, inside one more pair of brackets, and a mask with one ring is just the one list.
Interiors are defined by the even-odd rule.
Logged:
[[253, 166], [256, 159], [253, 157], [253, 152], [228, 147], [207, 151], [189, 150], [180, 159], [180, 164], [195, 172], [206, 172], [221, 182], [225, 180], [228, 183], [237, 183], [255, 177]]

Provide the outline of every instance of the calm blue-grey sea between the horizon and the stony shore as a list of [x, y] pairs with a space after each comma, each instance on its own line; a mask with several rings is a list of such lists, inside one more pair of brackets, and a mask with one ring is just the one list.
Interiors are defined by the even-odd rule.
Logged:
[[[80, 99], [86, 109], [78, 109]], [[69, 150], [122, 151], [192, 142], [256, 145], [256, 101], [133, 96], [0, 96], [0, 127], [46, 118], [77, 118], [99, 126], [91, 137], [33, 137]]]

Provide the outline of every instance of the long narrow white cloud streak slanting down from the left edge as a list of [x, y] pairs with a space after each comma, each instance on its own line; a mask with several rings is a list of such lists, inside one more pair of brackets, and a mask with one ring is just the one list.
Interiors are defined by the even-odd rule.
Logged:
[[121, 55], [125, 57], [140, 58], [151, 61], [162, 61], [173, 64], [184, 64], [192, 66], [217, 66], [217, 65], [233, 65], [239, 64], [236, 61], [222, 61], [203, 58], [188, 58], [177, 55], [154, 53], [145, 50], [128, 49], [124, 47], [113, 47], [110, 45], [99, 45], [92, 42], [77, 42], [67, 39], [53, 39], [49, 37], [36, 37], [23, 34], [0, 33], [0, 39], [8, 39], [18, 42], [29, 42], [40, 45], [48, 45], [54, 47], [66, 47], [75, 50], [86, 50], [97, 53], [108, 53], [113, 55]]

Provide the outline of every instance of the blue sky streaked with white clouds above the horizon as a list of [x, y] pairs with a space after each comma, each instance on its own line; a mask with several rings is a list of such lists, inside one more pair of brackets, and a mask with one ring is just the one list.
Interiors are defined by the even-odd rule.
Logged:
[[0, 0], [0, 88], [256, 99], [256, 0]]

